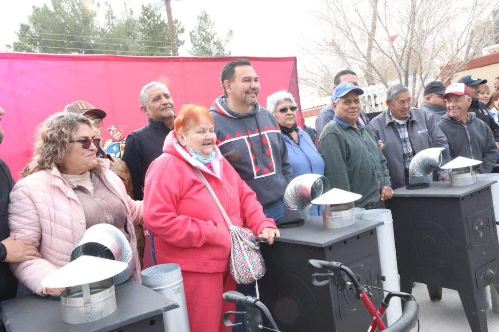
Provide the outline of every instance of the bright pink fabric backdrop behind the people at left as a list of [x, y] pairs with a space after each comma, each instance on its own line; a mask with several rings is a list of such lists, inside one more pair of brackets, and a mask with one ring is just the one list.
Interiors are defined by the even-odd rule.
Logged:
[[[138, 101], [144, 84], [165, 83], [176, 110], [184, 104], [209, 107], [222, 94], [220, 71], [234, 59], [0, 53], [0, 107], [5, 110], [0, 158], [16, 179], [32, 155], [36, 126], [76, 100], [106, 111], [104, 147], [119, 156], [126, 136], [147, 124]], [[295, 57], [247, 59], [260, 78], [263, 107], [278, 90], [291, 92], [300, 106]], [[301, 113], [298, 124], [303, 125]]]

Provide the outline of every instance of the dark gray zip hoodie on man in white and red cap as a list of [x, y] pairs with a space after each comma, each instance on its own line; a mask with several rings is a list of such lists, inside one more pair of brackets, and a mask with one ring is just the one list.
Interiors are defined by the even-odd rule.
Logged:
[[480, 173], [490, 173], [496, 165], [497, 147], [489, 125], [478, 119], [473, 112], [466, 125], [444, 114], [438, 123], [449, 143], [451, 157], [467, 157], [481, 160], [474, 168]]

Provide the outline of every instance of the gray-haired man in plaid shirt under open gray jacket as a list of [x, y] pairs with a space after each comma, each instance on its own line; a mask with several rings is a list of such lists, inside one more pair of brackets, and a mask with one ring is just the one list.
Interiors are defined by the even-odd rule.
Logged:
[[[387, 92], [388, 109], [371, 120], [369, 127], [383, 141], [390, 180], [394, 189], [409, 184], [409, 165], [412, 158], [428, 148], [449, 149], [438, 120], [428, 111], [411, 108], [409, 89], [402, 84], [392, 85]], [[438, 174], [447, 179], [447, 172]]]

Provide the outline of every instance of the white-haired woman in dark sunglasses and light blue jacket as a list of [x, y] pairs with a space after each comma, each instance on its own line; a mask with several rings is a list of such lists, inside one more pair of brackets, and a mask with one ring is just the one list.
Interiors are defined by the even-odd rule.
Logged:
[[[324, 175], [324, 160], [317, 152], [310, 136], [296, 125], [298, 107], [287, 91], [278, 91], [267, 97], [267, 110], [279, 124], [293, 175], [314, 173]], [[312, 206], [312, 214], [320, 215], [320, 206]]]

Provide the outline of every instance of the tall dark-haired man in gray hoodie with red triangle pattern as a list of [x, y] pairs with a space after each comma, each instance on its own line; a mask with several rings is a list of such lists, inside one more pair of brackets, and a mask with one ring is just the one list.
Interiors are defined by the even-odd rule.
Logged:
[[[222, 69], [220, 80], [224, 95], [210, 108], [217, 145], [256, 193], [265, 215], [279, 223], [284, 217], [284, 191], [293, 178], [279, 126], [272, 114], [258, 104], [260, 83], [250, 61], [229, 62]], [[255, 283], [237, 286], [238, 292], [256, 296]], [[236, 307], [236, 311], [245, 310]], [[237, 316], [236, 322], [242, 322], [242, 317]], [[233, 331], [245, 329], [241, 325]]]

